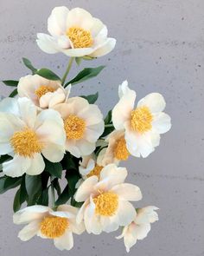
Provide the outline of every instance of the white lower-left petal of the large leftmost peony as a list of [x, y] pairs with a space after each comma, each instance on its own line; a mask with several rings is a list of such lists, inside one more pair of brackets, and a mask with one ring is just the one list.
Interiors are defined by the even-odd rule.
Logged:
[[20, 155], [15, 155], [10, 161], [3, 162], [3, 174], [10, 177], [19, 177], [29, 169], [31, 161]]

